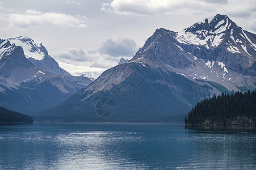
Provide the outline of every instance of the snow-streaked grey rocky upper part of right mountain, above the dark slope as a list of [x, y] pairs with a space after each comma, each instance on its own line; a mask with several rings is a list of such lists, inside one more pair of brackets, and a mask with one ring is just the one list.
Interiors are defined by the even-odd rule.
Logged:
[[254, 88], [255, 40], [228, 16], [216, 15], [181, 32], [157, 29], [129, 62], [150, 64], [156, 58], [161, 66], [190, 80], [216, 82], [230, 91]]

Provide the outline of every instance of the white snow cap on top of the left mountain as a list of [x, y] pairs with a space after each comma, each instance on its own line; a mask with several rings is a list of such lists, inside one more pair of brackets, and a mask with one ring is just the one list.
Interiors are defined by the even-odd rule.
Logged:
[[27, 36], [19, 36], [7, 40], [9, 40], [11, 44], [22, 46], [24, 54], [27, 58], [41, 60], [45, 56], [48, 56], [48, 52], [41, 42], [34, 41]]

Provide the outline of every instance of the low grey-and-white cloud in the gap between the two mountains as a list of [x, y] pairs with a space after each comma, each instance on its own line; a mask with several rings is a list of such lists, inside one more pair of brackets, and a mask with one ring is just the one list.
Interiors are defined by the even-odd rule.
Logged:
[[137, 52], [136, 42], [129, 38], [107, 39], [95, 50], [69, 48], [50, 52], [54, 59], [73, 65], [110, 68], [116, 66], [121, 57], [129, 58]]

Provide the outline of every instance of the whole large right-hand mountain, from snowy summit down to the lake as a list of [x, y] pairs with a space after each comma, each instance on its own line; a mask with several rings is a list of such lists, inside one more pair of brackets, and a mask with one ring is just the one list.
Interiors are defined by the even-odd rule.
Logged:
[[226, 15], [157, 29], [128, 62], [40, 113], [39, 120], [165, 121], [224, 91], [256, 87], [256, 35]]

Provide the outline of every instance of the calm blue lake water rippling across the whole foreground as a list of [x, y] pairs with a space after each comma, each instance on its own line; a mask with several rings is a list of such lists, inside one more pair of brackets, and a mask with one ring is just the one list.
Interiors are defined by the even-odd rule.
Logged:
[[182, 123], [0, 125], [0, 169], [256, 169], [256, 131]]

